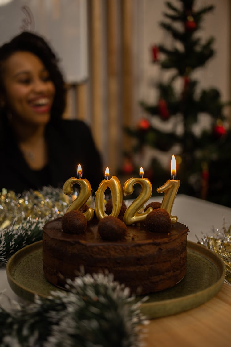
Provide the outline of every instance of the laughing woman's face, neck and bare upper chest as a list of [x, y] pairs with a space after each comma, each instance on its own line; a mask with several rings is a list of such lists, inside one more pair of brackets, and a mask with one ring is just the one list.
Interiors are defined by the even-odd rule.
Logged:
[[47, 164], [44, 127], [50, 120], [55, 86], [42, 61], [30, 52], [15, 52], [3, 64], [5, 102], [19, 149], [30, 168]]

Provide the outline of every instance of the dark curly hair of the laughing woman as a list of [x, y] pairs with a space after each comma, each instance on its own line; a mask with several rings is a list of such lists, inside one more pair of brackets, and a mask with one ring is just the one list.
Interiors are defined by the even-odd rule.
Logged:
[[[57, 65], [58, 59], [46, 41], [34, 33], [23, 32], [15, 36], [11, 41], [0, 47], [0, 95], [4, 93], [2, 81], [2, 63], [13, 53], [27, 51], [35, 54], [48, 70], [51, 81], [55, 86], [55, 96], [51, 109], [51, 122], [60, 119], [65, 109], [65, 83], [61, 71]], [[0, 109], [4, 116], [7, 110]]]

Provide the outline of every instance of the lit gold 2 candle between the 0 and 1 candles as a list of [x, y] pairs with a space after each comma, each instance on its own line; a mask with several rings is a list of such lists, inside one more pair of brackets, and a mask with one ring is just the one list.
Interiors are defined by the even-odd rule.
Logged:
[[148, 178], [144, 178], [143, 168], [140, 168], [141, 178], [129, 178], [124, 183], [124, 195], [133, 193], [134, 184], [138, 183], [141, 185], [141, 192], [139, 196], [131, 203], [124, 213], [124, 223], [131, 225], [133, 223], [142, 222], [145, 220], [146, 215], [149, 214], [153, 209], [149, 207], [145, 212], [138, 213], [138, 211], [143, 207], [143, 205], [149, 200], [152, 195], [152, 185]]

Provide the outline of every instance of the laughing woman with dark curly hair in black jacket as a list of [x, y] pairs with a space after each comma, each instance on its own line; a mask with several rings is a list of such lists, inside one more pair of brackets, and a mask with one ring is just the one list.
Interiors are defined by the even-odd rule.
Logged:
[[42, 37], [24, 32], [0, 48], [0, 189], [62, 187], [81, 163], [96, 190], [99, 153], [83, 122], [61, 120], [64, 108], [64, 80]]

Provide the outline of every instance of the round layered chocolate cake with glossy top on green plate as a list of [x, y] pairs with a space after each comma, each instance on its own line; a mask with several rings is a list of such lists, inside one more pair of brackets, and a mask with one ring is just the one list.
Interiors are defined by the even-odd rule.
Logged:
[[87, 223], [85, 232], [71, 234], [63, 232], [62, 219], [43, 228], [43, 270], [56, 286], [64, 287], [65, 279], [76, 277], [82, 266], [91, 274], [107, 269], [138, 294], [172, 287], [185, 276], [188, 228], [179, 222], [168, 232], [150, 231], [150, 225], [148, 230], [145, 225], [125, 226], [119, 239], [105, 239], [105, 227], [100, 236], [96, 220]]

